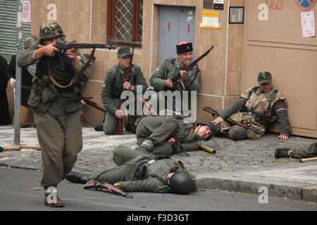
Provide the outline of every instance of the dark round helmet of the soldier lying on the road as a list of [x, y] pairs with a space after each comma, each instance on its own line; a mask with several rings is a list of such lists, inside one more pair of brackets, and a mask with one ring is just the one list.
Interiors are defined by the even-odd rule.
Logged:
[[186, 170], [175, 172], [175, 174], [170, 177], [170, 192], [187, 195], [195, 189], [195, 182]]

